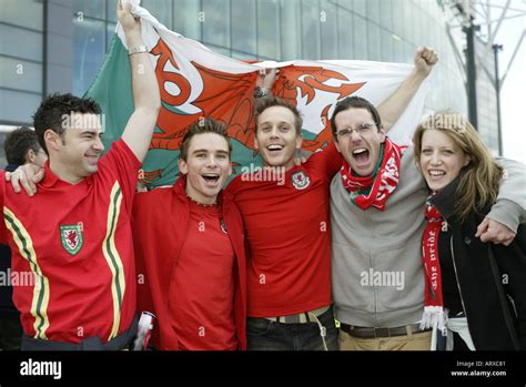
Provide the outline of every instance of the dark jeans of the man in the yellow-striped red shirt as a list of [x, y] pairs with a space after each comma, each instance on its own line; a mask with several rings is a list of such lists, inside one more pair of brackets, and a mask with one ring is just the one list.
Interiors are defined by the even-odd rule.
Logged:
[[22, 336], [22, 350], [121, 350], [136, 336], [139, 318], [133, 318], [130, 327], [108, 343], [102, 343], [100, 337], [84, 338], [79, 344], [67, 342], [51, 342]]

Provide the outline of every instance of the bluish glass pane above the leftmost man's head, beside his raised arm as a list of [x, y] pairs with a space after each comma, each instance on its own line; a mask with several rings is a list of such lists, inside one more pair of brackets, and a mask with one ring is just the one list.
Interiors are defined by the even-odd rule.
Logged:
[[73, 19], [74, 75], [73, 93], [82, 95], [90, 86], [102, 64], [105, 50], [105, 23], [85, 19]]

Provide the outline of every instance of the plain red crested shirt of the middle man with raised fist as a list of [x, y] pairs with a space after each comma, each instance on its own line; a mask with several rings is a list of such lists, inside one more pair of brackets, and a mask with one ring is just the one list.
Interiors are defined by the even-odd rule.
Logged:
[[328, 187], [342, 166], [334, 144], [280, 181], [236, 176], [234, 195], [246, 228], [247, 315], [273, 317], [331, 304]]

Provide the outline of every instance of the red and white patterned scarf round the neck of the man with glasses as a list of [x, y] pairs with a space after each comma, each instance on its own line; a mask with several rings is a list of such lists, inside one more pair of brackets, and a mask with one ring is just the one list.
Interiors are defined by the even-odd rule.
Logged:
[[[384, 211], [385, 202], [398, 185], [399, 159], [407, 146], [396, 145], [388, 138], [382, 146], [382, 163], [372, 176], [354, 176], [345, 160], [340, 171], [343, 186], [350, 192], [351, 201], [362, 210], [373, 206]], [[366, 192], [367, 190], [370, 191]]]

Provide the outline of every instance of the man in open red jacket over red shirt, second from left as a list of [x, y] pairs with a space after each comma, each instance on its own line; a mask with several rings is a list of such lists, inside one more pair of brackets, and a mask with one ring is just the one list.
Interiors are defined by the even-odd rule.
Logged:
[[164, 350], [246, 348], [243, 223], [221, 192], [232, 145], [212, 119], [183, 139], [173, 186], [135, 195], [138, 312], [156, 316], [152, 343]]

